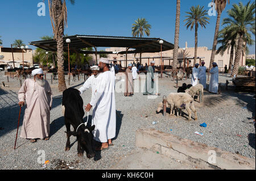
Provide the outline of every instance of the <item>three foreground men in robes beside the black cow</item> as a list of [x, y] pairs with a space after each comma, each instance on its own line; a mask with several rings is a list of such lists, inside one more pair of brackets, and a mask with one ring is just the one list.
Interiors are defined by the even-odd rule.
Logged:
[[[92, 97], [86, 104], [85, 111], [93, 110], [94, 140], [101, 142], [96, 150], [103, 150], [113, 145], [112, 138], [115, 137], [115, 74], [109, 70], [109, 60], [106, 58], [101, 58], [98, 66], [92, 66], [91, 69], [93, 74], [79, 91], [82, 94], [92, 88]], [[49, 140], [52, 90], [49, 83], [43, 79], [41, 68], [33, 70], [32, 76], [33, 78], [24, 81], [18, 92], [19, 106], [24, 106], [25, 102], [27, 104], [20, 137], [31, 142], [38, 139]]]

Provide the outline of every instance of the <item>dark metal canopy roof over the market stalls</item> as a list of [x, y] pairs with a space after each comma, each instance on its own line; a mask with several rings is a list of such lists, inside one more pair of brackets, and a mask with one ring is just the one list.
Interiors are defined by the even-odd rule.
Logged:
[[[127, 53], [160, 52], [159, 40], [162, 40], [160, 38], [148, 37], [73, 35], [63, 37], [64, 51], [68, 51], [68, 44], [65, 42], [66, 39], [71, 40], [71, 43], [69, 43], [69, 49], [71, 51], [74, 50], [80, 52], [81, 48], [88, 47], [126, 47], [129, 49], [135, 49], [129, 50], [127, 51]], [[48, 51], [56, 52], [57, 50], [57, 43], [54, 39], [31, 41], [30, 44]], [[162, 51], [170, 49], [174, 49], [174, 44], [171, 44], [168, 41], [163, 40]], [[97, 51], [97, 53], [100, 53], [100, 51]], [[126, 53], [126, 51], [118, 53], [123, 54]]]

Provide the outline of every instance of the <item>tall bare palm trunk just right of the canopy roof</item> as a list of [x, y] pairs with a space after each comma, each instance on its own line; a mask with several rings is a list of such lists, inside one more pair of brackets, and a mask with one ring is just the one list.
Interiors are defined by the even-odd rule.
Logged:
[[179, 51], [179, 35], [180, 35], [180, 0], [176, 2], [176, 21], [175, 21], [175, 35], [174, 35], [174, 61], [172, 62], [172, 70], [177, 71], [177, 55]]

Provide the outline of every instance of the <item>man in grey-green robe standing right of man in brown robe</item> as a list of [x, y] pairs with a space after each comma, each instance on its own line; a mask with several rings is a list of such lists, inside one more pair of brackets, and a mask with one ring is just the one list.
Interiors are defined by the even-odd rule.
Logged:
[[151, 61], [150, 62], [150, 66], [148, 66], [147, 69], [147, 77], [146, 77], [146, 83], [145, 83], [145, 87], [144, 87], [144, 92], [143, 95], [160, 95], [157, 91], [156, 91], [156, 77], [154, 75], [154, 69], [153, 67], [155, 66], [155, 61]]

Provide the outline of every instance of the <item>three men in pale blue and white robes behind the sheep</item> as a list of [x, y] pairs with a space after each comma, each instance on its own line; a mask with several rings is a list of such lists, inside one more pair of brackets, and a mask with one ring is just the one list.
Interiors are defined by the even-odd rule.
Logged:
[[[204, 86], [204, 89], [206, 89], [206, 71], [207, 68], [204, 66], [205, 62], [201, 62], [201, 66], [199, 67], [199, 64], [195, 64], [195, 67], [192, 69], [192, 78], [191, 78], [191, 84], [192, 86], [197, 85], [197, 83], [200, 83]], [[209, 92], [217, 93], [218, 92], [218, 66], [216, 62], [212, 63], [213, 68], [210, 69], [210, 82], [209, 82]]]

